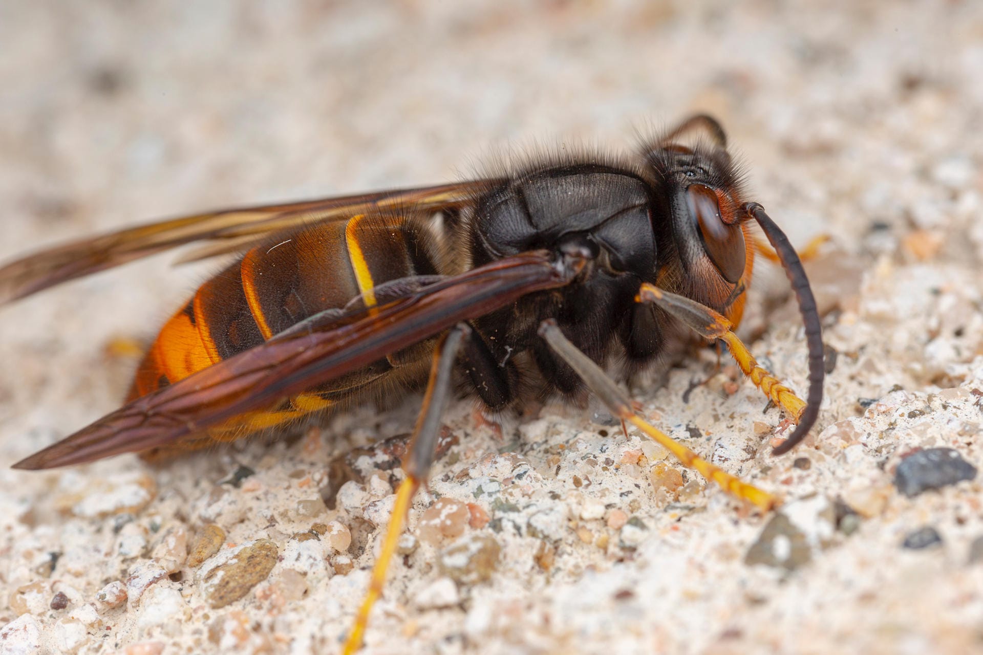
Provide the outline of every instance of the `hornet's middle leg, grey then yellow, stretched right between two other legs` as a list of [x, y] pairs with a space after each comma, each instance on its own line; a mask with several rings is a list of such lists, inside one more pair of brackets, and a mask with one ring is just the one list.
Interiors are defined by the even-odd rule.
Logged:
[[772, 494], [762, 491], [754, 485], [742, 482], [730, 473], [725, 472], [720, 466], [710, 464], [689, 448], [675, 441], [665, 434], [665, 432], [659, 430], [636, 414], [634, 409], [632, 409], [631, 400], [627, 394], [621, 391], [617, 384], [607, 377], [607, 373], [593, 359], [581, 353], [576, 346], [563, 336], [555, 321], [543, 321], [540, 324], [539, 334], [549, 344], [549, 348], [552, 349], [553, 353], [577, 371], [577, 375], [601, 399], [601, 402], [607, 405], [607, 409], [610, 409], [611, 413], [645, 432], [654, 441], [672, 453], [679, 462], [696, 469], [707, 480], [716, 482], [730, 495], [747, 500], [765, 512], [778, 505], [778, 499]]

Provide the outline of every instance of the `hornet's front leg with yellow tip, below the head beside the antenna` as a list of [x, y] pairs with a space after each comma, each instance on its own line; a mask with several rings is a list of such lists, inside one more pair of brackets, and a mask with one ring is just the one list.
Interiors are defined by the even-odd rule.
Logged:
[[642, 284], [636, 300], [658, 304], [704, 339], [723, 340], [741, 371], [751, 378], [751, 381], [764, 392], [765, 396], [787, 411], [793, 421], [797, 422], [802, 416], [805, 402], [795, 396], [788, 387], [781, 384], [777, 377], [758, 364], [754, 355], [751, 355], [743, 342], [731, 331], [733, 325], [723, 314], [719, 314], [695, 300], [670, 294], [649, 283]]

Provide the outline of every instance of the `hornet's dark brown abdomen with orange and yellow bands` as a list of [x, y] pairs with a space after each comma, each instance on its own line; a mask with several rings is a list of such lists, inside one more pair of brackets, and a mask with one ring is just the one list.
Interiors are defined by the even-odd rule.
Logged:
[[[383, 282], [437, 274], [438, 257], [425, 230], [421, 222], [401, 216], [356, 216], [254, 247], [205, 282], [164, 324], [137, 369], [127, 400], [258, 346], [309, 316], [343, 307], [360, 294], [372, 304], [373, 288]], [[405, 382], [407, 375], [418, 374], [418, 367], [410, 366], [393, 375], [392, 365], [384, 359], [371, 368], [364, 376], [366, 384], [385, 377]], [[149, 455], [236, 439], [329, 408], [359, 391], [331, 384], [318, 387], [194, 435], [166, 453]]]

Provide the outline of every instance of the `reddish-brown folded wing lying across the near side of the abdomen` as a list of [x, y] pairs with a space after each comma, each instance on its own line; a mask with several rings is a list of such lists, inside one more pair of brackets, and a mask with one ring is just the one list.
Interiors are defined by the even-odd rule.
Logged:
[[[506, 257], [396, 300], [305, 321], [139, 398], [14, 464], [53, 468], [157, 448], [340, 377], [532, 292], [562, 287], [583, 260], [543, 250]], [[325, 312], [327, 314], [328, 312]]]

